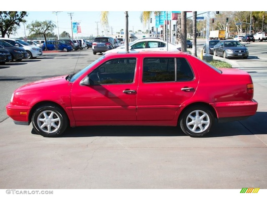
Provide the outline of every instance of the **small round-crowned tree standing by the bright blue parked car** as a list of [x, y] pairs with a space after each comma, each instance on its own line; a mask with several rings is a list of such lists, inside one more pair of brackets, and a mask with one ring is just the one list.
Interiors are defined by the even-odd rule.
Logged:
[[[44, 35], [45, 43], [48, 34], [54, 35], [53, 30], [55, 27], [56, 25], [52, 21], [47, 20], [43, 22], [35, 21], [27, 25], [27, 29], [30, 31], [30, 33]], [[47, 45], [45, 46], [45, 49], [47, 50]]]

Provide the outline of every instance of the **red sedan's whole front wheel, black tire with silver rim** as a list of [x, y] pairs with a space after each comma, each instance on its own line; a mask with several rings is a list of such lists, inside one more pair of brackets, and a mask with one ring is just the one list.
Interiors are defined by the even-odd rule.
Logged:
[[53, 105], [39, 107], [32, 116], [33, 129], [44, 137], [57, 137], [64, 133], [69, 120], [64, 110]]

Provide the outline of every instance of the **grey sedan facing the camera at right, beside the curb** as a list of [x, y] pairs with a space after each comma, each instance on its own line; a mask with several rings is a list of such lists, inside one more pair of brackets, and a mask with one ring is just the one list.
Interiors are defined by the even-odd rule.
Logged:
[[213, 55], [223, 58], [248, 58], [249, 50], [238, 41], [224, 40], [214, 46]]

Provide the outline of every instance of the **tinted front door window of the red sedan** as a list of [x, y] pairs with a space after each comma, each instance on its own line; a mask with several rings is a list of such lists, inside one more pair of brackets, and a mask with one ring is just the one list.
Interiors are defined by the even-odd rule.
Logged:
[[89, 74], [90, 84], [132, 83], [135, 67], [136, 58], [112, 59]]

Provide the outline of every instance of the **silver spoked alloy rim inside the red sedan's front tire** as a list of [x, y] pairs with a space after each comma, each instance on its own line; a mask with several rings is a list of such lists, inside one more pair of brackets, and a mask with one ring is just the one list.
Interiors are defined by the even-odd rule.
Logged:
[[52, 110], [44, 110], [37, 116], [37, 125], [45, 133], [54, 133], [61, 126], [59, 115]]

